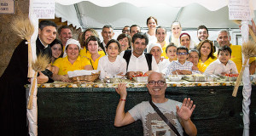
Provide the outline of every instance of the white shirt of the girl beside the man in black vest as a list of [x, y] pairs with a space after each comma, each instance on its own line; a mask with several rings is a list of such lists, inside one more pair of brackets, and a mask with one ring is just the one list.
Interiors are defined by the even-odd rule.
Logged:
[[97, 70], [101, 71], [100, 79], [105, 77], [113, 77], [120, 72], [126, 73], [126, 61], [121, 56], [117, 56], [114, 62], [110, 62], [108, 56], [99, 59]]

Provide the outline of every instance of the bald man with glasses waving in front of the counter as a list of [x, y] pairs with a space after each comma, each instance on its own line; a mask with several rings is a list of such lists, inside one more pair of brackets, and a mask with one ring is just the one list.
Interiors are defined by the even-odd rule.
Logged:
[[116, 92], [120, 95], [120, 99], [116, 109], [114, 126], [122, 127], [141, 120], [143, 122], [143, 133], [145, 136], [155, 136], [157, 133], [175, 135], [172, 129], [167, 126], [166, 122], [154, 110], [153, 105], [156, 105], [160, 112], [166, 116], [166, 119], [172, 122], [173, 127], [177, 129], [177, 133], [183, 135], [184, 128], [185, 133], [188, 135], [196, 135], [197, 129], [195, 124], [190, 120], [190, 116], [195, 110], [193, 101], [191, 99], [184, 99], [183, 103], [180, 103], [176, 100], [167, 99], [165, 96], [166, 87], [166, 78], [164, 75], [155, 71], [151, 72], [148, 76], [147, 83], [148, 93], [151, 95], [151, 99], [149, 102], [143, 101], [125, 113], [126, 84], [120, 83], [118, 88], [115, 88]]

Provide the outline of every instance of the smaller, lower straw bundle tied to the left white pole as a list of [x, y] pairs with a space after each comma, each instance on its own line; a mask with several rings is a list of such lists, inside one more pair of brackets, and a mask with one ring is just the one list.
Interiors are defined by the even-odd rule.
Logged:
[[[39, 54], [38, 58], [35, 62], [32, 62], [32, 69], [35, 71], [34, 78], [37, 78], [38, 71], [44, 71], [47, 66], [49, 65], [49, 56], [46, 54]], [[27, 109], [32, 109], [32, 100], [33, 100], [33, 94], [34, 94], [34, 89], [36, 87], [36, 80], [32, 80], [32, 89], [31, 93], [29, 96], [28, 104], [27, 104]]]

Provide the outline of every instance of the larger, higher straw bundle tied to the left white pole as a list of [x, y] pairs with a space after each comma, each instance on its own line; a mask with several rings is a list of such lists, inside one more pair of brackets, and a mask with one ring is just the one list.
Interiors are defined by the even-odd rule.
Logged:
[[28, 42], [28, 72], [27, 77], [32, 77], [32, 48], [30, 44], [30, 39], [34, 32], [34, 26], [28, 17], [21, 15], [15, 18], [10, 24], [11, 28], [21, 39], [26, 39]]

